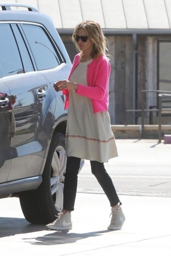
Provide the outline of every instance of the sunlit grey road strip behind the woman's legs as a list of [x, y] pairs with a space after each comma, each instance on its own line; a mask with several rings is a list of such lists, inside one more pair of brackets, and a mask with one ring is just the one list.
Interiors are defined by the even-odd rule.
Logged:
[[[105, 168], [120, 195], [171, 197], [171, 144], [158, 140], [116, 140], [119, 157]], [[89, 161], [79, 173], [78, 191], [103, 193]]]

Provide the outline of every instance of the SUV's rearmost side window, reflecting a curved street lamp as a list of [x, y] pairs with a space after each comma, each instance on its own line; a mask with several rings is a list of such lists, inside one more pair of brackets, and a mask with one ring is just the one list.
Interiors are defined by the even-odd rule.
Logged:
[[60, 64], [57, 49], [43, 28], [36, 25], [23, 24], [22, 28], [35, 58], [39, 70], [55, 68]]

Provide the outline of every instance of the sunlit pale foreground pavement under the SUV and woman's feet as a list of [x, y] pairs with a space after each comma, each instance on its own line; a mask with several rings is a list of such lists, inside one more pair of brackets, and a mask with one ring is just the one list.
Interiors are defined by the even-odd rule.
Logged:
[[1, 199], [0, 246], [4, 255], [171, 255], [171, 198], [120, 195], [126, 221], [107, 230], [110, 206], [104, 194], [77, 193], [73, 229], [29, 224], [18, 198]]

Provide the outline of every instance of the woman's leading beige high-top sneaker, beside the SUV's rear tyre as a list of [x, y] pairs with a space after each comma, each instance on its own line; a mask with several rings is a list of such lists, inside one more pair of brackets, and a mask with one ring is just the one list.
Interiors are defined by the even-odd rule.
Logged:
[[58, 219], [46, 225], [46, 228], [55, 229], [55, 230], [70, 230], [72, 229], [71, 222], [71, 212], [58, 213]]

